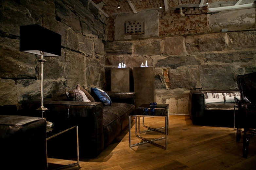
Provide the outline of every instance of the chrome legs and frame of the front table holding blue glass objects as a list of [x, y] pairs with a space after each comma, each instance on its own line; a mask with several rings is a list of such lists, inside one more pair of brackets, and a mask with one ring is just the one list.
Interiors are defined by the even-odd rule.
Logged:
[[[136, 137], [138, 137], [138, 138], [140, 138], [142, 140], [145, 140], [145, 142], [140, 142], [140, 143], [132, 144], [131, 145], [131, 116], [135, 116], [135, 135], [136, 135]], [[165, 127], [156, 128], [156, 129], [151, 128], [150, 130], [142, 131], [142, 133], [154, 130], [154, 131], [160, 132], [162, 134], [165, 134], [165, 137], [160, 137], [160, 138], [153, 139], [153, 140], [147, 140], [144, 137], [138, 135], [137, 134], [137, 117], [139, 118], [139, 120], [140, 120], [140, 117], [143, 117], [143, 120], [144, 120], [144, 117], [164, 117], [165, 118]], [[169, 127], [168, 126], [169, 125], [168, 122], [169, 122], [169, 114], [167, 114], [167, 116], [129, 115], [129, 147], [131, 148], [131, 147], [134, 147], [134, 146], [137, 146], [137, 145], [141, 145], [141, 144], [145, 144], [145, 143], [151, 143], [151, 144], [156, 145], [156, 146], [158, 146], [158, 147], [160, 147], [162, 149], [167, 149], [167, 135], [168, 135], [168, 127]], [[144, 127], [147, 127], [147, 126], [144, 126]], [[150, 128], [150, 127], [147, 127], [147, 128]], [[161, 131], [158, 131], [158, 129], [163, 129], [163, 128], [165, 128], [165, 133], [161, 132]], [[165, 147], [154, 142], [154, 141], [161, 140], [161, 139], [165, 139]]]

